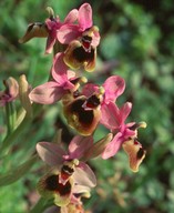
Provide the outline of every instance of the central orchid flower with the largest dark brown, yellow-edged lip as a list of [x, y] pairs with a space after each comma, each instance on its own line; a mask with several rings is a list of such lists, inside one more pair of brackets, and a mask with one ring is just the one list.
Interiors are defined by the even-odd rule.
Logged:
[[121, 77], [110, 77], [102, 87], [86, 83], [82, 92], [62, 98], [64, 115], [70, 126], [82, 135], [90, 135], [96, 129], [100, 120], [104, 119], [104, 105], [115, 101], [124, 91], [124, 80]]

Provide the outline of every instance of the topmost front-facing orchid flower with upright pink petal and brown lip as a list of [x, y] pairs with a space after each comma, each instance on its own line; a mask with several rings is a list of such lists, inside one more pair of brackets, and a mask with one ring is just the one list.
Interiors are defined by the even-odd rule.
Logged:
[[69, 44], [64, 52], [64, 62], [71, 69], [84, 67], [86, 71], [94, 70], [100, 33], [98, 27], [93, 26], [92, 8], [89, 3], [80, 7], [78, 24], [64, 24], [60, 28], [58, 40]]

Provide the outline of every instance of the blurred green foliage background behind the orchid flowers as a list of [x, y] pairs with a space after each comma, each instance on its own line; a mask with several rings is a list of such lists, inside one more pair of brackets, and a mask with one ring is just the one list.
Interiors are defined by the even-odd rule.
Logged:
[[[63, 20], [68, 11], [83, 2], [93, 8], [94, 24], [100, 28], [95, 73], [88, 78], [102, 83], [119, 74], [126, 81], [119, 104], [133, 103], [130, 121], [145, 121], [139, 141], [147, 154], [139, 173], [132, 173], [125, 153], [91, 161], [98, 176], [92, 197], [84, 201], [94, 213], [174, 212], [174, 4], [173, 0], [1, 0], [0, 1], [0, 90], [2, 80], [25, 74], [33, 87], [47, 81], [52, 55], [44, 55], [45, 39], [20, 44], [28, 23], [48, 17], [51, 6]], [[0, 126], [4, 125], [0, 109]], [[24, 162], [38, 141], [51, 141], [58, 126], [63, 139], [73, 132], [61, 121], [58, 105], [45, 106], [25, 130], [8, 156], [0, 159], [0, 174]], [[100, 128], [95, 138], [105, 134]], [[29, 136], [30, 135], [30, 136]], [[18, 182], [0, 187], [0, 213], [24, 213], [34, 205], [35, 183], [43, 174], [38, 160]]]

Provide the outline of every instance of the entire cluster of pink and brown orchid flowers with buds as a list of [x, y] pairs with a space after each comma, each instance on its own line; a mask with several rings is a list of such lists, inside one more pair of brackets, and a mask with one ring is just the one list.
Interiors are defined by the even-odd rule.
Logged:
[[[146, 124], [126, 123], [132, 103], [126, 102], [122, 106], [116, 103], [125, 89], [123, 78], [112, 75], [99, 85], [88, 82], [85, 72], [82, 72], [95, 70], [100, 43], [91, 6], [83, 3], [79, 10], [71, 10], [64, 21], [54, 16], [51, 8], [47, 10], [49, 18], [43, 23], [29, 24], [19, 41], [24, 43], [33, 38], [47, 38], [45, 53], [54, 53], [49, 81], [32, 88], [24, 75], [19, 83], [9, 78], [4, 82], [6, 91], [0, 92], [0, 105], [19, 97], [27, 113], [31, 114], [33, 103], [61, 102], [68, 126], [74, 129], [76, 135], [68, 148], [62, 145], [60, 130], [54, 142], [37, 144], [39, 156], [49, 165], [47, 174], [38, 183], [38, 191], [44, 197], [52, 197], [62, 213], [83, 213], [81, 199], [89, 197], [91, 187], [96, 185], [88, 161], [96, 156], [110, 159], [123, 148], [131, 170], [137, 172], [145, 156], [145, 150], [137, 141], [137, 129]], [[99, 124], [110, 133], [94, 142], [93, 134]]]

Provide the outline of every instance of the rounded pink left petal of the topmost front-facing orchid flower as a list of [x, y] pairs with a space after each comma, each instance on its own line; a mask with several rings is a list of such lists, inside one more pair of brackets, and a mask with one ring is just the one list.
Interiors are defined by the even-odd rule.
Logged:
[[78, 39], [81, 36], [79, 27], [74, 24], [64, 24], [57, 32], [57, 38], [60, 43], [69, 44], [71, 41]]

